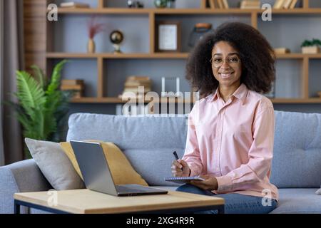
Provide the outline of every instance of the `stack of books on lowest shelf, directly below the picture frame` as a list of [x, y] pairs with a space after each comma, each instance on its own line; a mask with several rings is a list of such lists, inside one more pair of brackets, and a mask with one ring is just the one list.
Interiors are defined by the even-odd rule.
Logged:
[[[143, 86], [143, 88], [140, 88]], [[135, 98], [143, 98], [144, 95], [151, 91], [151, 78], [147, 76], [129, 76], [126, 79], [125, 86], [123, 89], [123, 93], [119, 95], [119, 98], [122, 98], [124, 93], [126, 97], [135, 97]], [[131, 92], [131, 93], [128, 93]]]

